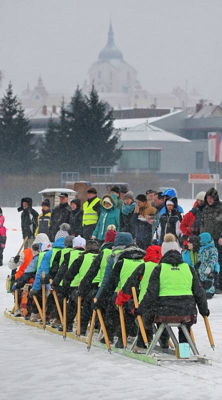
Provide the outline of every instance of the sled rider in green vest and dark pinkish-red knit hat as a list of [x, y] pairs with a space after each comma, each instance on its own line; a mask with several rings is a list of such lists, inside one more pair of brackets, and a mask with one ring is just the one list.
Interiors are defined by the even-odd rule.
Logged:
[[116, 234], [115, 225], [108, 225], [105, 233], [105, 241], [99, 248], [98, 255], [96, 255], [92, 261], [90, 268], [75, 292], [75, 298], [77, 299], [77, 296], [81, 296], [83, 300], [81, 309], [81, 335], [86, 334], [88, 321], [91, 315], [91, 302], [98, 291], [98, 287], [101, 285], [107, 257], [112, 253]]

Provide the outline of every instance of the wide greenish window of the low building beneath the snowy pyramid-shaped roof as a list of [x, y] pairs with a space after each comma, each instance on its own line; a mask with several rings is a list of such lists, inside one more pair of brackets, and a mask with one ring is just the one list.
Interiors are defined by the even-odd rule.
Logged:
[[119, 169], [158, 170], [160, 169], [160, 150], [123, 149], [119, 160]]

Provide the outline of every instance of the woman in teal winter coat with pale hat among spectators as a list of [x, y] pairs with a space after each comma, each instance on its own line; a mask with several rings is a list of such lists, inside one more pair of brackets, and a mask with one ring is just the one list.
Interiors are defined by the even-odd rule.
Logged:
[[119, 231], [120, 210], [117, 208], [117, 202], [115, 194], [104, 194], [101, 199], [101, 212], [92, 233], [92, 239], [103, 242], [108, 225], [115, 225], [116, 232]]

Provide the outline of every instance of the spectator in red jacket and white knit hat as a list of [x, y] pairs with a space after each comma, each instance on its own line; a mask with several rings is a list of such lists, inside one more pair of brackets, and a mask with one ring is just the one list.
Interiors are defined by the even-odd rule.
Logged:
[[204, 196], [205, 191], [200, 191], [196, 194], [196, 201], [193, 207], [188, 211], [180, 223], [180, 230], [183, 235], [183, 246], [187, 244], [187, 238], [193, 234], [199, 235], [200, 233], [200, 222], [203, 208], [205, 207]]

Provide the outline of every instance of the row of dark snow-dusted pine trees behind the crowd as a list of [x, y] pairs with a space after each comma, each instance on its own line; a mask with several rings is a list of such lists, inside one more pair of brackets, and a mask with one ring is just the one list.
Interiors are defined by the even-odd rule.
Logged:
[[112, 109], [94, 86], [88, 96], [77, 87], [69, 104], [61, 100], [59, 121], [49, 119], [44, 137], [30, 130], [9, 82], [0, 101], [1, 173], [88, 172], [90, 166], [113, 166], [121, 155]]

